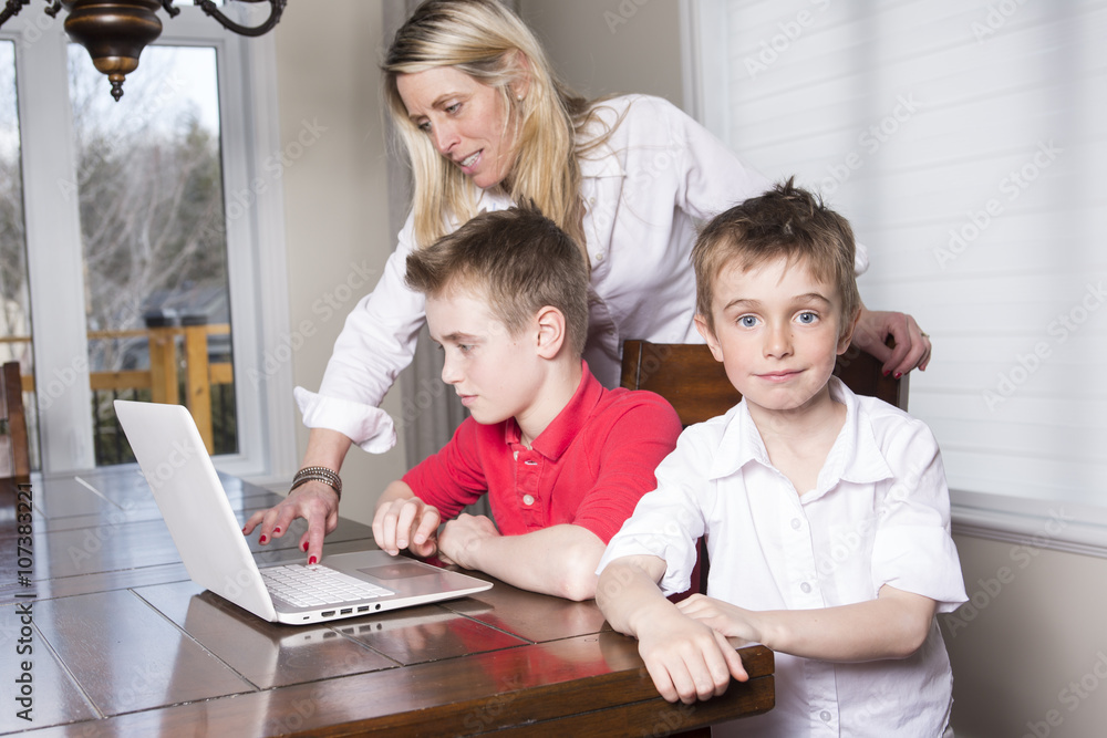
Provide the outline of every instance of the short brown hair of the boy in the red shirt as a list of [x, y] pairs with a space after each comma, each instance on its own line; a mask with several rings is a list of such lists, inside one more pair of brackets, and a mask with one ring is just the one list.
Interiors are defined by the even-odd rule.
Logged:
[[428, 297], [483, 291], [493, 314], [517, 335], [546, 306], [565, 315], [566, 345], [588, 337], [588, 270], [580, 250], [534, 204], [482, 212], [407, 256], [406, 282]]

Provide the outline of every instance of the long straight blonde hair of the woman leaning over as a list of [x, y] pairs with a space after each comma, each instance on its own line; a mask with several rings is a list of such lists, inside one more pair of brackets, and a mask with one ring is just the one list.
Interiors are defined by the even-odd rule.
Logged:
[[[496, 0], [423, 2], [396, 31], [385, 56], [385, 96], [415, 179], [415, 242], [425, 247], [444, 236], [451, 217], [463, 224], [476, 215], [477, 187], [408, 118], [396, 86], [401, 74], [439, 66], [499, 93], [507, 121], [516, 126], [516, 159], [500, 187], [515, 202], [532, 201], [583, 252], [576, 134], [590, 119], [588, 103], [557, 79], [535, 34]], [[523, 100], [513, 85], [526, 89]]]

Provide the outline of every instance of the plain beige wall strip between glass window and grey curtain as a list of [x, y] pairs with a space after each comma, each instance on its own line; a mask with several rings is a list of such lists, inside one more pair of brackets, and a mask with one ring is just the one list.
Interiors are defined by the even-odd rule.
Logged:
[[[283, 175], [293, 377], [315, 391], [346, 313], [395, 247], [377, 95], [381, 4], [292, 2], [275, 32], [284, 150], [298, 152], [292, 144], [318, 132], [299, 158], [288, 157]], [[397, 397], [399, 387], [385, 409], [395, 414]], [[299, 412], [287, 422], [299, 429], [299, 464], [308, 433]], [[371, 521], [377, 493], [403, 474], [403, 461], [402, 446], [384, 455], [351, 449], [342, 514]]]

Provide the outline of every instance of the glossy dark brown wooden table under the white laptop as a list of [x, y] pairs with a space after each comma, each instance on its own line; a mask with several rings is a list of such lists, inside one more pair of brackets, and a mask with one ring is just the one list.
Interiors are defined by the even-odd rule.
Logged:
[[[279, 499], [235, 478], [224, 486], [242, 519]], [[327, 625], [266, 623], [188, 579], [136, 467], [35, 475], [27, 496], [29, 523], [0, 491], [0, 734], [641, 736], [773, 706], [763, 646], [741, 649], [749, 682], [670, 705], [594, 602], [500, 582]], [[251, 547], [299, 560], [302, 526], [277, 548]], [[327, 551], [371, 542], [342, 520]]]

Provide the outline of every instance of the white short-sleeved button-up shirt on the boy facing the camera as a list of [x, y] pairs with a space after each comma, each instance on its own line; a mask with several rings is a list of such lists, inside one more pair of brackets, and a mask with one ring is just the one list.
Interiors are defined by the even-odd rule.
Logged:
[[[689, 588], [706, 536], [710, 596], [748, 610], [806, 610], [873, 600], [884, 584], [951, 612], [966, 600], [950, 537], [950, 501], [930, 429], [837, 378], [846, 423], [815, 489], [773, 467], [743, 401], [690, 427], [658, 468], [658, 489], [611, 540], [619, 557], [665, 560], [666, 594]], [[948, 727], [952, 676], [937, 620], [901, 661], [829, 663], [776, 655], [776, 707], [732, 724], [741, 736], [935, 738]], [[712, 735], [728, 735], [716, 726]]]

